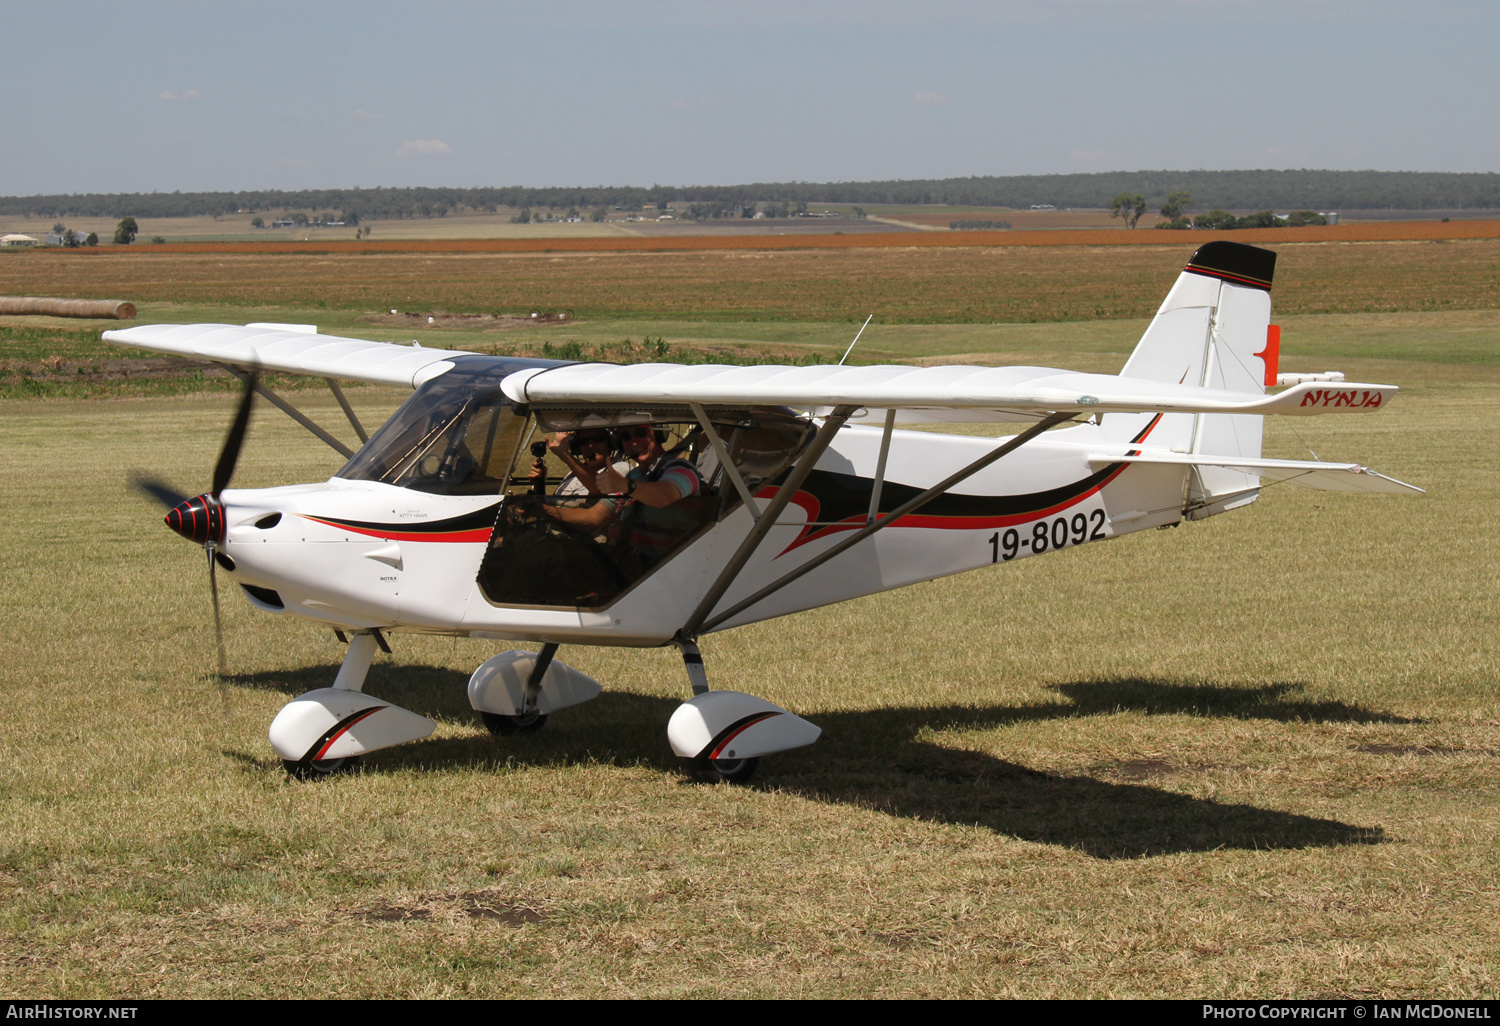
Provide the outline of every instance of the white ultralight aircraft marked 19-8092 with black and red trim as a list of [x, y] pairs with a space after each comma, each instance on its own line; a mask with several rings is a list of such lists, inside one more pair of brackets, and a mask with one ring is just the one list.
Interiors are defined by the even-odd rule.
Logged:
[[[710, 690], [704, 634], [1200, 520], [1254, 502], [1268, 480], [1419, 494], [1354, 464], [1262, 458], [1266, 414], [1368, 412], [1396, 392], [1344, 381], [1268, 392], [1280, 346], [1274, 268], [1269, 250], [1200, 248], [1118, 376], [566, 363], [286, 324], [158, 324], [104, 338], [246, 381], [207, 494], [138, 484], [171, 507], [174, 531], [206, 548], [210, 578], [222, 568], [256, 609], [306, 616], [348, 642], [332, 687], [292, 699], [270, 726], [288, 771], [327, 776], [434, 730], [362, 692], [376, 646], [390, 651], [386, 634], [417, 632], [542, 645], [495, 656], [470, 678], [470, 702], [496, 736], [600, 693], [554, 658], [558, 645], [676, 645], [693, 698], [670, 717], [672, 748], [700, 777], [744, 780], [760, 756], [812, 744], [819, 728], [752, 694]], [[327, 378], [360, 450], [264, 387], [261, 370]], [[366, 436], [340, 378], [414, 392]], [[320, 484], [228, 489], [256, 393], [344, 453], [344, 468]], [[996, 440], [896, 430], [898, 420], [1029, 426]], [[542, 432], [618, 438], [640, 426], [658, 441], [645, 477], [687, 460], [696, 495], [660, 508], [616, 495], [604, 528], [546, 514], [544, 504], [598, 498], [546, 495], [526, 476]], [[222, 652], [220, 639], [220, 663]]]

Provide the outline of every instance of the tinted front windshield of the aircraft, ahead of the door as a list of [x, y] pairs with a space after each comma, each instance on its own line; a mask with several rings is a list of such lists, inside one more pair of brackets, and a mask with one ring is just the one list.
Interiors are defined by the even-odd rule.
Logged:
[[375, 432], [338, 477], [382, 482], [436, 495], [495, 495], [525, 423], [500, 392], [501, 380], [543, 360], [459, 357]]

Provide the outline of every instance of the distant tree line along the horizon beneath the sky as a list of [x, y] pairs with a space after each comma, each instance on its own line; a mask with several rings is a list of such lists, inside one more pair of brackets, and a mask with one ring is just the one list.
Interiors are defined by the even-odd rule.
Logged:
[[[1191, 192], [1198, 207], [1221, 210], [1492, 210], [1500, 174], [1426, 171], [1110, 171], [898, 182], [780, 182], [735, 186], [596, 186], [525, 189], [306, 189], [300, 192], [146, 192], [0, 196], [0, 214], [39, 218], [186, 218], [268, 210], [340, 210], [344, 219], [442, 218], [498, 208], [684, 208], [702, 204], [718, 216], [744, 216], [752, 204], [950, 204], [1012, 207], [1108, 207], [1124, 195], [1160, 206]], [[1132, 204], [1134, 207], [1136, 204]], [[732, 212], [740, 210], [735, 214]], [[770, 216], [770, 210], [766, 212]], [[714, 216], [708, 213], [708, 216]]]

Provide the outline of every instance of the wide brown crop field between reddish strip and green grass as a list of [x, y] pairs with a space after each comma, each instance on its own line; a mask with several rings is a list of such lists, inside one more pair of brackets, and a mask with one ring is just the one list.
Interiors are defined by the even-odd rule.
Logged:
[[[1245, 242], [1287, 243], [1300, 238], [1296, 232], [1234, 234]], [[308, 310], [399, 308], [525, 316], [555, 309], [578, 318], [849, 321], [873, 310], [882, 322], [1083, 321], [1149, 316], [1194, 246], [1210, 237], [1112, 234], [1148, 236], [1161, 244], [286, 255], [266, 246], [244, 252], [33, 250], [0, 260], [0, 292]], [[1282, 244], [1278, 250], [1280, 314], [1500, 309], [1496, 238]], [[146, 309], [141, 316], [153, 314]]]

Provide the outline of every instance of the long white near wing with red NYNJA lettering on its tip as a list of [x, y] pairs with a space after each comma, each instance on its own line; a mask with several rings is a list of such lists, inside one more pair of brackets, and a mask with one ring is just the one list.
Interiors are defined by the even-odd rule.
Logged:
[[1320, 414], [1378, 410], [1395, 386], [1304, 382], [1275, 394], [1053, 368], [730, 368], [574, 363], [520, 370], [501, 388], [522, 404], [746, 404], [816, 410], [975, 410], [1014, 414]]

